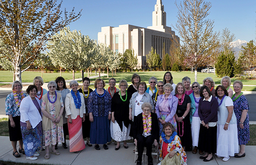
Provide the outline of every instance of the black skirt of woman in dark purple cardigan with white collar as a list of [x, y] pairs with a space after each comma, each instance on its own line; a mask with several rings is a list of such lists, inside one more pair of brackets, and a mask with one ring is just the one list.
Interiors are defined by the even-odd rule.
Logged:
[[217, 148], [217, 125], [207, 129], [200, 125], [198, 148], [208, 153], [216, 153]]

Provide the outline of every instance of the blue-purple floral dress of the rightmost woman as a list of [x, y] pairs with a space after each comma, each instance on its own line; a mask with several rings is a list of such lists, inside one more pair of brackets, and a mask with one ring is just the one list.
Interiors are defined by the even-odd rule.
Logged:
[[[235, 99], [235, 96], [232, 98]], [[234, 112], [237, 117], [237, 133], [238, 133], [238, 144], [247, 144], [250, 140], [250, 129], [249, 129], [249, 115], [247, 113], [244, 120], [244, 129], [240, 128], [239, 122], [244, 109], [250, 110], [248, 101], [244, 95], [237, 98], [234, 101]]]

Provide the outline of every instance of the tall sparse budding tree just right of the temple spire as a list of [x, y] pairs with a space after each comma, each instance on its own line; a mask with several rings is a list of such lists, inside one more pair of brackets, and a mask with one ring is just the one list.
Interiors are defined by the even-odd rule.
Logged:
[[[183, 0], [178, 7], [178, 21], [176, 30], [183, 42], [185, 54], [183, 59], [190, 58], [190, 64], [195, 68], [195, 81], [197, 81], [197, 68], [205, 63], [218, 44], [218, 33], [213, 32], [213, 23], [206, 19], [211, 8], [210, 2], [203, 0]], [[178, 43], [176, 41], [176, 43]], [[190, 56], [193, 54], [193, 57]]]

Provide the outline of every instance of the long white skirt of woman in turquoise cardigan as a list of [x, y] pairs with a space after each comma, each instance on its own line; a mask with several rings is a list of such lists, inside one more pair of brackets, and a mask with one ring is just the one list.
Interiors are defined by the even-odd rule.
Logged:
[[192, 134], [193, 146], [198, 146], [199, 130], [200, 130], [200, 118], [192, 116], [191, 134]]

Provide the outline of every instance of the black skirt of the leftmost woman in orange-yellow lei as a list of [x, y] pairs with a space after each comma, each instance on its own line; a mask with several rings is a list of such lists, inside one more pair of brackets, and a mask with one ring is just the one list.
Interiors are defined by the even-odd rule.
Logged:
[[20, 116], [15, 116], [15, 117], [12, 117], [12, 119], [15, 123], [15, 127], [11, 126], [11, 121], [9, 119], [8, 120], [9, 138], [10, 138], [10, 141], [19, 141], [19, 140], [22, 139], [21, 125], [20, 125], [21, 117]]

